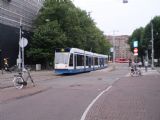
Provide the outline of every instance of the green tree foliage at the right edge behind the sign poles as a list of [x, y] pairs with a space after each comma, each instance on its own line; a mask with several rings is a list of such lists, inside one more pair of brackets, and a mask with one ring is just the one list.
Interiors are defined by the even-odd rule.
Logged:
[[129, 44], [131, 45], [131, 51], [133, 51], [133, 40], [139, 41], [139, 57], [145, 56], [145, 51], [149, 52], [151, 56], [151, 23], [153, 24], [153, 37], [154, 37], [154, 57], [160, 58], [160, 16], [154, 17], [145, 28], [138, 28], [132, 33]]

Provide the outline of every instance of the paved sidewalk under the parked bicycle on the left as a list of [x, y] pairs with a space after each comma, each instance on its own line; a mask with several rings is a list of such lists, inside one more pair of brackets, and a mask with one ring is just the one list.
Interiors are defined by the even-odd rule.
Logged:
[[13, 87], [13, 77], [16, 73], [4, 73], [0, 74], [0, 103], [8, 102], [10, 100], [19, 99], [26, 96], [31, 96], [45, 90], [48, 90], [49, 86], [40, 84], [40, 81], [53, 80], [59, 76], [56, 76], [53, 71], [32, 71], [31, 76], [35, 81], [36, 86], [33, 87], [31, 82], [26, 88], [18, 90]]

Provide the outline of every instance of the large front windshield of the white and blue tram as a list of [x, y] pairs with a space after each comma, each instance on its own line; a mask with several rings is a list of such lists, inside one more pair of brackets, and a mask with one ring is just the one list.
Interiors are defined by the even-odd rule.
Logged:
[[55, 53], [55, 64], [68, 64], [68, 59], [68, 52]]

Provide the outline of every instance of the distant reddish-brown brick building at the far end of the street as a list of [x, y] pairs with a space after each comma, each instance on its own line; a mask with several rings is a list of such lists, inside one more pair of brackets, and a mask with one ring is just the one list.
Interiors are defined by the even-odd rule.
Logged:
[[[107, 40], [113, 45], [113, 39], [115, 40], [115, 59], [132, 58], [133, 53], [130, 51], [130, 46], [128, 44], [129, 36], [120, 35], [120, 36], [107, 36]], [[113, 45], [114, 46], [114, 45]]]

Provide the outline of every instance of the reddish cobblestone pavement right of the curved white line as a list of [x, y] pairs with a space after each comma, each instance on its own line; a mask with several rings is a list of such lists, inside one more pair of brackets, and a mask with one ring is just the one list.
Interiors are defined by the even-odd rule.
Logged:
[[160, 120], [160, 74], [124, 77], [92, 106], [85, 120]]

